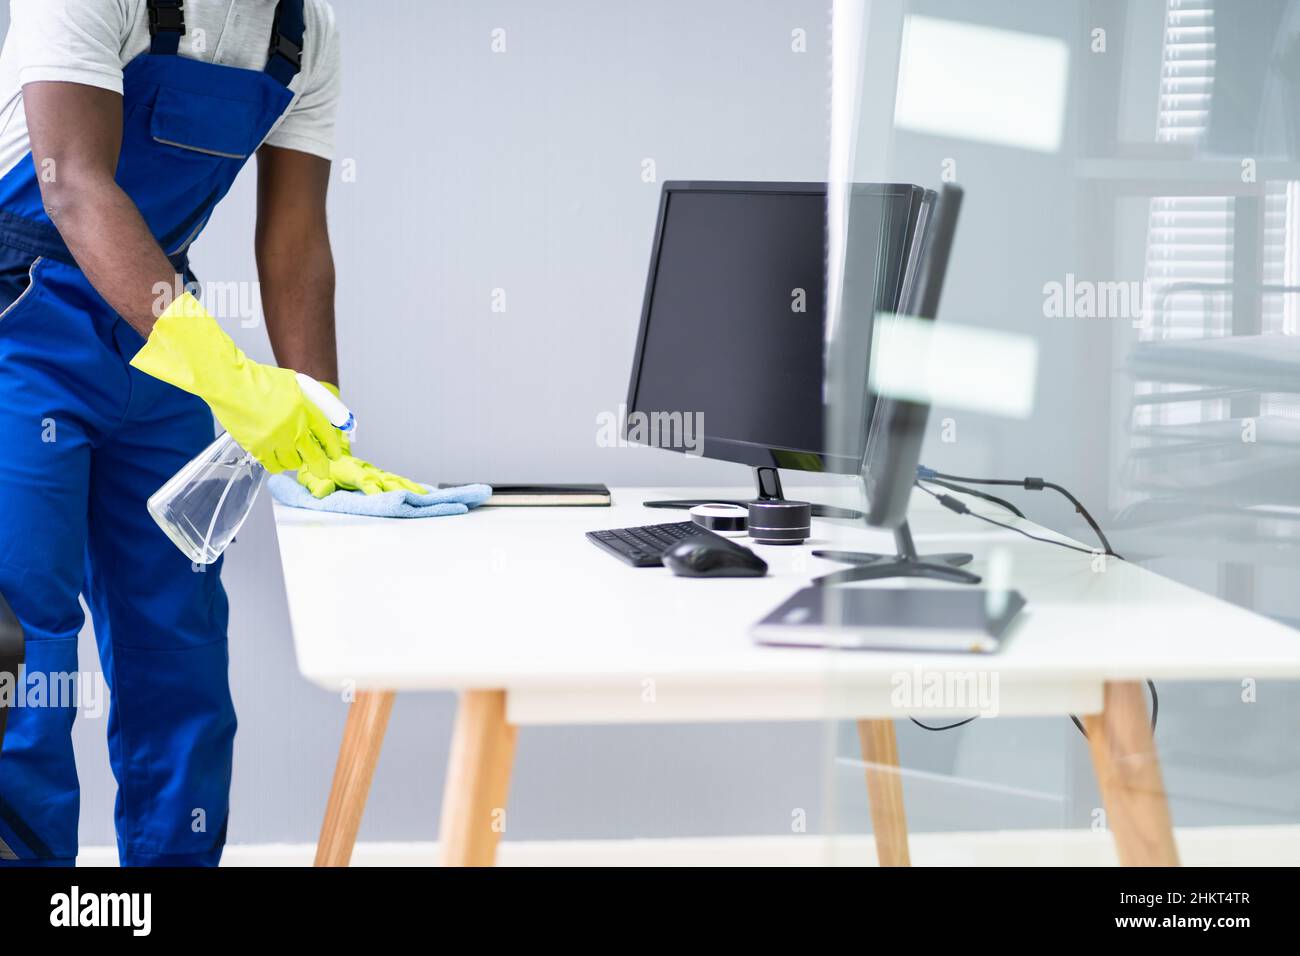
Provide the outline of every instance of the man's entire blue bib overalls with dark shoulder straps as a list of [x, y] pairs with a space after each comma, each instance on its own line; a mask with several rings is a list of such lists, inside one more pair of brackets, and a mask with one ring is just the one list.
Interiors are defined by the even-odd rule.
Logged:
[[[182, 0], [150, 3], [117, 182], [187, 278], [186, 251], [292, 100], [304, 30], [303, 0], [282, 0], [266, 70], [218, 66], [178, 55]], [[0, 754], [0, 865], [77, 856], [79, 594], [112, 695], [122, 864], [216, 865], [235, 734], [226, 596], [220, 564], [192, 567], [146, 511], [212, 441], [212, 414], [130, 367], [144, 341], [77, 268], [40, 172], [29, 156], [0, 179], [0, 593], [27, 639]]]

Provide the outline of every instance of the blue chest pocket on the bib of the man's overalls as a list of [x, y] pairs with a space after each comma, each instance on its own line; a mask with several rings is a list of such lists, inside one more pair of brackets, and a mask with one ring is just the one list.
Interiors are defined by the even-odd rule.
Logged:
[[150, 137], [160, 146], [217, 159], [243, 160], [265, 134], [259, 103], [164, 87], [153, 101]]

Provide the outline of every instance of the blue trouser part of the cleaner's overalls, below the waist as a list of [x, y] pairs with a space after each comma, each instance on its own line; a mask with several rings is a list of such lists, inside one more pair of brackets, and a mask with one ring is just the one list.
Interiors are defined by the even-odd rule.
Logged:
[[191, 566], [146, 510], [212, 441], [212, 414], [130, 368], [143, 339], [75, 267], [0, 250], [0, 592], [27, 641], [0, 865], [77, 856], [78, 708], [55, 688], [77, 682], [81, 596], [110, 692], [122, 864], [216, 865], [235, 734], [226, 596], [220, 564]]

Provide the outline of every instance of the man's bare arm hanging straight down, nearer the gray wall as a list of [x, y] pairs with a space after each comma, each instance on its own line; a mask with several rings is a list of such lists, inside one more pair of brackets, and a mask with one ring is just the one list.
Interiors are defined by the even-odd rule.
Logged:
[[337, 385], [329, 177], [318, 156], [273, 146], [257, 152], [257, 276], [270, 346], [281, 365]]

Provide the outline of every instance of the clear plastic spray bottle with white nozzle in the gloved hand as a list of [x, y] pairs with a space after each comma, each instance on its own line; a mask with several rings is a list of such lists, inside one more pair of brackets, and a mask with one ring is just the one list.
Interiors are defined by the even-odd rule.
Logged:
[[[356, 419], [329, 389], [300, 372], [298, 386], [332, 425], [355, 437]], [[225, 433], [155, 492], [148, 509], [190, 561], [212, 564], [235, 540], [265, 483], [261, 462]]]

